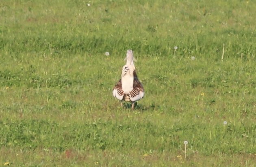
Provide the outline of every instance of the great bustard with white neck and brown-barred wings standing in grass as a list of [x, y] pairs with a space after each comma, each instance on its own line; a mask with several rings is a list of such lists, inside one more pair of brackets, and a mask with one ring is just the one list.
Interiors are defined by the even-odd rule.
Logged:
[[132, 110], [134, 110], [134, 103], [144, 96], [144, 88], [137, 77], [133, 59], [132, 50], [128, 50], [126, 53], [126, 64], [123, 66], [121, 73], [121, 79], [113, 89], [113, 96], [121, 101], [121, 105], [122, 101], [132, 102]]

